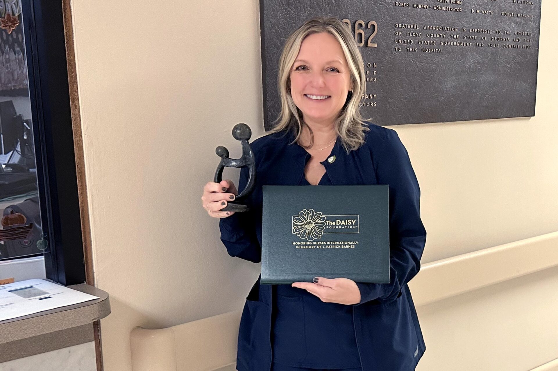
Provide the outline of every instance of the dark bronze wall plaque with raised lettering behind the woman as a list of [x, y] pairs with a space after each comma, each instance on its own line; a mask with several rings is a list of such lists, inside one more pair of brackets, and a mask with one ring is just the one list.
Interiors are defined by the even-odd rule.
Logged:
[[364, 60], [364, 118], [379, 125], [535, 115], [541, 0], [261, 0], [266, 130], [281, 110], [278, 61], [290, 32], [328, 15]]

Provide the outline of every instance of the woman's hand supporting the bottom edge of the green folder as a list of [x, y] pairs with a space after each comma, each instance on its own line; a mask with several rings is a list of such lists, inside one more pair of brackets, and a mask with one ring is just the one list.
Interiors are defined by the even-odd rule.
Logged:
[[314, 282], [293, 282], [292, 287], [305, 289], [320, 298], [324, 302], [337, 302], [339, 304], [358, 304], [360, 302], [360, 290], [355, 281], [346, 278], [326, 279], [315, 277]]

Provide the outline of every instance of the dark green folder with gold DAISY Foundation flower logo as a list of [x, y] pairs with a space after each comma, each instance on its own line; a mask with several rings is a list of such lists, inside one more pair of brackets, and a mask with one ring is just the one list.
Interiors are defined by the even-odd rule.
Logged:
[[262, 284], [389, 282], [387, 184], [263, 186]]

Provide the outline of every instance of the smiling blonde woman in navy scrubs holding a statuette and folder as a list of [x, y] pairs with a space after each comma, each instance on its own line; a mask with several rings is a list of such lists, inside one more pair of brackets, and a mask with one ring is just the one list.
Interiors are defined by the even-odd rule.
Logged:
[[[425, 352], [407, 286], [426, 242], [419, 184], [396, 131], [360, 116], [364, 81], [362, 56], [343, 22], [317, 17], [304, 23], [280, 58], [278, 123], [252, 142], [257, 183], [247, 201], [251, 211], [220, 211], [237, 194], [230, 180], [207, 183], [201, 199], [209, 215], [220, 218], [229, 255], [257, 263], [263, 184], [389, 184], [391, 282], [316, 277], [260, 285], [258, 278], [240, 320], [238, 371], [408, 371]], [[242, 168], [240, 189], [247, 179]]]

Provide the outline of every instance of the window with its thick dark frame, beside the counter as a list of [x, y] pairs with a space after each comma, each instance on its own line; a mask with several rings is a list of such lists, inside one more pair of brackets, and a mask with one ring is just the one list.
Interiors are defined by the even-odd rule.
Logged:
[[46, 278], [85, 282], [63, 4], [0, 0], [0, 279], [43, 256]]

